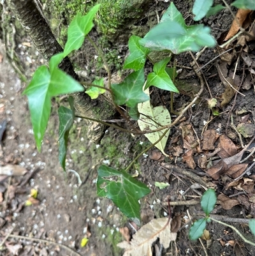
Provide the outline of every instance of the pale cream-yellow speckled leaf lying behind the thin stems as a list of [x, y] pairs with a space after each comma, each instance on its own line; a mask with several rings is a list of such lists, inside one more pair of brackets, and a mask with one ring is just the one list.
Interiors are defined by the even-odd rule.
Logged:
[[[146, 89], [145, 93], [149, 97], [149, 89]], [[169, 111], [163, 106], [152, 107], [149, 100], [138, 104], [138, 111], [140, 112], [138, 125], [142, 131], [156, 130], [157, 128], [161, 128], [161, 126], [171, 123]], [[159, 140], [164, 131], [165, 129], [158, 132], [145, 133], [145, 137], [147, 137], [151, 143], [154, 143]], [[161, 141], [155, 145], [165, 156], [168, 156], [168, 154], [164, 153], [164, 147], [166, 147], [169, 133], [170, 130], [168, 130]]]

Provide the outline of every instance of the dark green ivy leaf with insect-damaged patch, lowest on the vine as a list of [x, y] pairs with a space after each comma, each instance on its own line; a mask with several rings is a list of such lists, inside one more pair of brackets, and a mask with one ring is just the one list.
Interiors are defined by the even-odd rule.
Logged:
[[140, 223], [138, 200], [150, 193], [150, 189], [145, 184], [134, 179], [125, 171], [101, 165], [98, 169], [97, 188], [99, 197], [112, 199], [124, 215], [136, 223]]

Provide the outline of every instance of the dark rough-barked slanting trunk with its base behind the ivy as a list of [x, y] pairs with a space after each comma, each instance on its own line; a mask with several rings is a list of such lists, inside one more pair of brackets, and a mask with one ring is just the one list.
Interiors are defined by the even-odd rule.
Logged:
[[[54, 54], [63, 51], [48, 26], [47, 20], [41, 15], [40, 10], [38, 10], [33, 0], [8, 1], [10, 8], [14, 11], [25, 32], [31, 37], [34, 45], [47, 61]], [[74, 79], [79, 80], [68, 57], [62, 61], [59, 68], [71, 75]], [[103, 98], [91, 100], [85, 93], [75, 93], [73, 97], [75, 98], [75, 108], [82, 116], [103, 120], [110, 119], [114, 114], [112, 105], [103, 100]], [[99, 143], [105, 132], [105, 126], [101, 123], [88, 123], [88, 137], [94, 142]]]

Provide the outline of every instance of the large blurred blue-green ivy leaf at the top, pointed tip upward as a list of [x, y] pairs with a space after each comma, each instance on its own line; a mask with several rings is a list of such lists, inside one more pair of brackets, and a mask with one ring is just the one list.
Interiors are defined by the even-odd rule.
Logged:
[[168, 9], [161, 22], [139, 41], [141, 45], [150, 50], [170, 50], [174, 54], [188, 50], [197, 52], [201, 47], [216, 45], [214, 37], [210, 35], [209, 27], [204, 27], [202, 24], [186, 26], [173, 3]]

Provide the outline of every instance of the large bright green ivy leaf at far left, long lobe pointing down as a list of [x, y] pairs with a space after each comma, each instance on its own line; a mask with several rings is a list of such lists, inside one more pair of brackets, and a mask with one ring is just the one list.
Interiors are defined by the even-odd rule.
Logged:
[[34, 72], [33, 79], [22, 94], [27, 95], [28, 98], [38, 151], [41, 150], [41, 142], [50, 117], [50, 100], [52, 96], [75, 93], [77, 91], [84, 91], [84, 87], [58, 68], [54, 68], [49, 72], [46, 66], [40, 66]]

